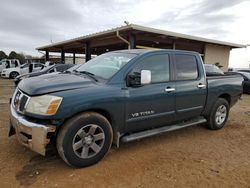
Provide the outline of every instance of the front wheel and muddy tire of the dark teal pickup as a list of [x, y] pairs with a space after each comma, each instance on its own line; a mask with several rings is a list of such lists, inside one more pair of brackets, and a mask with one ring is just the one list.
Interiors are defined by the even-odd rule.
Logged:
[[67, 164], [87, 167], [105, 156], [112, 141], [113, 131], [109, 121], [98, 113], [86, 112], [74, 116], [63, 125], [56, 145], [59, 155]]

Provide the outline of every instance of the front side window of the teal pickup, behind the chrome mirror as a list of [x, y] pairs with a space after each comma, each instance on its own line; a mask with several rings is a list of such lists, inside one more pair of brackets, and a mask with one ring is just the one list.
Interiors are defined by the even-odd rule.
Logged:
[[150, 70], [151, 83], [160, 83], [170, 80], [169, 67], [169, 55], [157, 54], [143, 59], [132, 72], [138, 75], [141, 70]]

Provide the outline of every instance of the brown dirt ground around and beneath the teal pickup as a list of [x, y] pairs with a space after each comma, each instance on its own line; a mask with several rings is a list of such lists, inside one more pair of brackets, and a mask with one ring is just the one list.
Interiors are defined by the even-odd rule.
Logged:
[[12, 80], [0, 79], [0, 187], [248, 187], [250, 95], [219, 131], [194, 126], [112, 148], [97, 165], [74, 169], [8, 138]]

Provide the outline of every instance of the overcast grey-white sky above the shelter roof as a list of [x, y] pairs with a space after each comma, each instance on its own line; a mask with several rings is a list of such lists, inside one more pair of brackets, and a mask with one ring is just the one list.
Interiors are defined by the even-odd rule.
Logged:
[[[35, 48], [129, 23], [250, 44], [250, 0], [0, 0], [0, 50]], [[250, 47], [230, 53], [249, 67]]]

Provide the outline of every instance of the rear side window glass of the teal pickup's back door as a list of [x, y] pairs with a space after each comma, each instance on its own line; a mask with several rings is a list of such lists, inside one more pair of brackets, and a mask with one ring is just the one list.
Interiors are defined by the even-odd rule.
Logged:
[[193, 80], [198, 78], [196, 57], [192, 55], [175, 55], [176, 80]]

